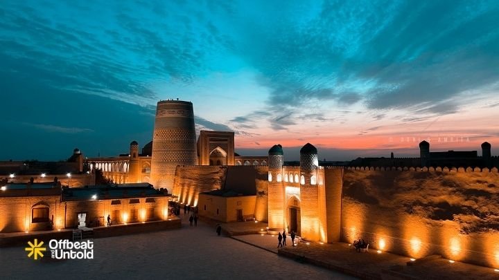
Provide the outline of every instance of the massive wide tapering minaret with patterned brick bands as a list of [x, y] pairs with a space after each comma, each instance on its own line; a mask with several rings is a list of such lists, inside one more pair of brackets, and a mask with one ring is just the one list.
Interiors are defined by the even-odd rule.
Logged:
[[191, 102], [157, 102], [152, 134], [151, 183], [173, 190], [177, 165], [197, 165], [194, 110]]

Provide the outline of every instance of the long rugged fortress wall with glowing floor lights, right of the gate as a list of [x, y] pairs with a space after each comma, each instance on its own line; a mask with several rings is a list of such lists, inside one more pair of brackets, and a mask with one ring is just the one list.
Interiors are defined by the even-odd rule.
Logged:
[[409, 170], [345, 170], [342, 241], [499, 267], [497, 169]]

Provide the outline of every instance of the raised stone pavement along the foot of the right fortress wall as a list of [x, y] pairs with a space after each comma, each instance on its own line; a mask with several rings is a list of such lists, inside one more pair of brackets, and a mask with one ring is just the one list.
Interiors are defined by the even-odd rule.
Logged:
[[232, 238], [270, 252], [277, 252], [280, 256], [295, 261], [312, 263], [362, 279], [499, 279], [499, 272], [492, 268], [468, 263], [450, 263], [440, 256], [410, 261], [407, 256], [378, 253], [376, 250], [359, 253], [347, 243], [301, 242], [296, 247], [288, 245], [277, 250], [277, 236], [252, 234]]

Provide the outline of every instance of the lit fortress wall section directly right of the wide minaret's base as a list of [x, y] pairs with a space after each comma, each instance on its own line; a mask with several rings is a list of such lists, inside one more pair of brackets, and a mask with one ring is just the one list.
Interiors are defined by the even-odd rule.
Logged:
[[213, 189], [222, 189], [227, 167], [192, 165], [177, 166], [173, 183], [173, 195], [188, 205], [198, 205], [198, 195]]

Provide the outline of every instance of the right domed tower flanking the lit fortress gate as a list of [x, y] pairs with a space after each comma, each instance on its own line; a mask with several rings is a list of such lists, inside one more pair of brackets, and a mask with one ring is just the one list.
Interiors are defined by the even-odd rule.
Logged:
[[306, 143], [300, 149], [300, 198], [301, 198], [301, 236], [309, 241], [321, 239], [319, 211], [319, 188], [317, 187], [317, 168], [319, 159], [313, 144]]

